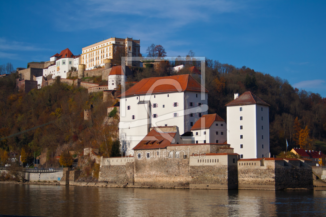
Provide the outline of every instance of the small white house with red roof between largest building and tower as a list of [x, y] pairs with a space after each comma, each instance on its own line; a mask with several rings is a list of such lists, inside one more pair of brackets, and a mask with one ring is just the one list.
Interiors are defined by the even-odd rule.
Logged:
[[194, 143], [226, 142], [226, 130], [225, 121], [217, 114], [203, 115], [190, 129]]

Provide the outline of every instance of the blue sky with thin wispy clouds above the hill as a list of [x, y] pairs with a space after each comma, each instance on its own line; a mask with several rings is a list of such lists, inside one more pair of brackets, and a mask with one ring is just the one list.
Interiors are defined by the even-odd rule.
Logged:
[[287, 79], [326, 97], [326, 1], [1, 1], [0, 64], [26, 67], [110, 37]]

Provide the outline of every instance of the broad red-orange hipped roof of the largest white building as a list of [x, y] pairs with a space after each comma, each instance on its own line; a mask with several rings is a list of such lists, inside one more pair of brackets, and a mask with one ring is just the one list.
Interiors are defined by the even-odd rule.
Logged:
[[[125, 92], [125, 94], [126, 96], [130, 96], [146, 93], [162, 93], [176, 91], [200, 92], [200, 89], [200, 83], [198, 83], [191, 75], [173, 75], [166, 77], [144, 78], [140, 82], [129, 88]], [[208, 90], [205, 89], [205, 92], [208, 92]], [[120, 98], [121, 95], [118, 97]]]

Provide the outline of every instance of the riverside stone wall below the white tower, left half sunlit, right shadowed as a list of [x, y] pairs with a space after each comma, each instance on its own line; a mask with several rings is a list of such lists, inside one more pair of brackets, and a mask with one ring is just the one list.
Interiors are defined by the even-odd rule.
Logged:
[[311, 162], [288, 158], [258, 159], [238, 162], [239, 189], [313, 188]]

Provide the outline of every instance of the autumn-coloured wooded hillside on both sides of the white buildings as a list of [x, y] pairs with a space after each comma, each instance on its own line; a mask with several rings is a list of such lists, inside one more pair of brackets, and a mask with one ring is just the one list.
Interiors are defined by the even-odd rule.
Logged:
[[[152, 76], [171, 75], [170, 62], [159, 68], [137, 69], [128, 81], [139, 81]], [[175, 64], [175, 62], [172, 62]], [[197, 63], [194, 62], [194, 65]], [[200, 67], [197, 65], [200, 69]], [[206, 88], [209, 90], [209, 114], [217, 113], [226, 119], [225, 104], [233, 100], [233, 94], [252, 91], [270, 106], [271, 155], [285, 151], [287, 139], [289, 149], [299, 147], [326, 151], [326, 99], [319, 94], [294, 89], [286, 80], [253, 69], [236, 68], [218, 61], [206, 60]], [[181, 70], [179, 74], [188, 73]], [[81, 154], [85, 147], [98, 147], [101, 156], [118, 155], [111, 139], [116, 125], [102, 125], [107, 107], [114, 101], [102, 102], [102, 93], [88, 94], [87, 89], [73, 88], [66, 84], [34, 89], [28, 94], [16, 89], [16, 74], [0, 79], [0, 137], [30, 129], [55, 120], [53, 124], [19, 134], [0, 141], [0, 148], [7, 152], [22, 149], [32, 161], [40, 153], [46, 153], [49, 162], [63, 150]], [[198, 79], [198, 78], [197, 78]], [[104, 81], [103, 81], [104, 82]], [[94, 106], [93, 120], [84, 121], [83, 111]], [[298, 117], [297, 121], [295, 121]], [[306, 128], [307, 127], [307, 128]], [[308, 131], [300, 137], [300, 130]], [[302, 131], [302, 135], [303, 135]], [[113, 148], [112, 148], [113, 147]]]

